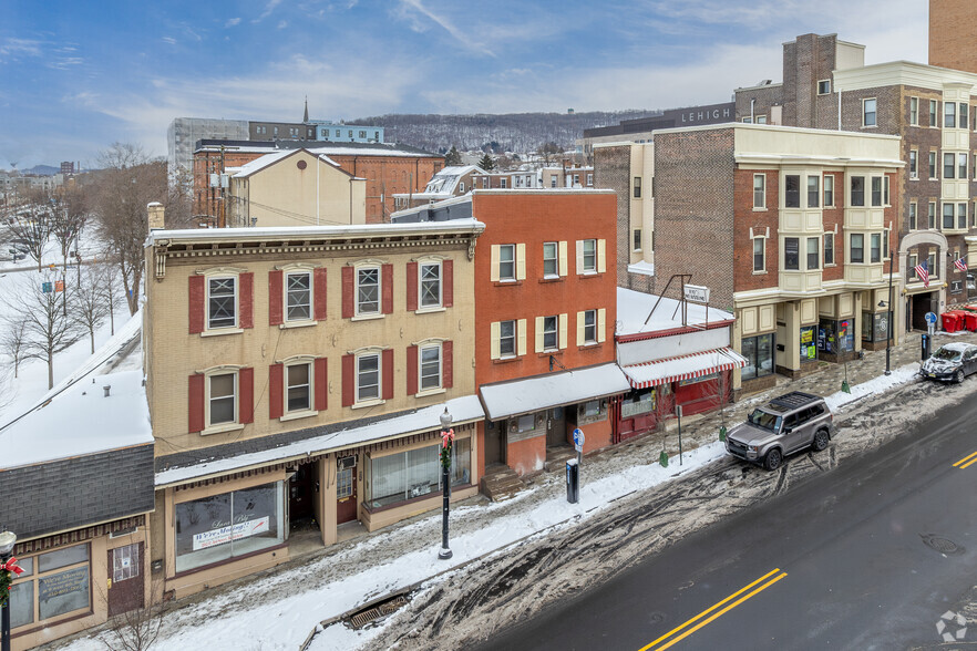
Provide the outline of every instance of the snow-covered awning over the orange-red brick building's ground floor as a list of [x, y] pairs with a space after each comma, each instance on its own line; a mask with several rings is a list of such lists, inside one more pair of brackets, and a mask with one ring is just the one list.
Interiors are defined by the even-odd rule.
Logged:
[[482, 386], [481, 393], [486, 415], [497, 421], [629, 390], [627, 378], [611, 363], [491, 384]]

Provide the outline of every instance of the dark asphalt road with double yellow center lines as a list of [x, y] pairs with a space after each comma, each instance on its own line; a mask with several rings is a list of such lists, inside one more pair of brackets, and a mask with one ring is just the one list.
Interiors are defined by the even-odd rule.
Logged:
[[974, 453], [964, 401], [482, 648], [935, 648], [977, 585], [977, 463], [958, 463]]

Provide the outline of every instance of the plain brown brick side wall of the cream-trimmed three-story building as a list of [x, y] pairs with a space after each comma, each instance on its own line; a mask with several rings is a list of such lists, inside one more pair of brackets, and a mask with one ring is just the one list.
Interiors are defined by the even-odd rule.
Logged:
[[[655, 273], [673, 273], [712, 291], [732, 309], [733, 144], [731, 128], [658, 134], [655, 138]], [[692, 246], [690, 246], [690, 244]], [[672, 282], [668, 296], [679, 298]]]

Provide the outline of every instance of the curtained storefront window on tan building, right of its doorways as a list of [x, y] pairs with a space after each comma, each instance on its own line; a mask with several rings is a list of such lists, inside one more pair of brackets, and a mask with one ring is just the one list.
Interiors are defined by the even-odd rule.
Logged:
[[[368, 503], [372, 508], [390, 506], [441, 489], [441, 443], [369, 459]], [[472, 441], [457, 438], [451, 446], [451, 485], [472, 482]]]

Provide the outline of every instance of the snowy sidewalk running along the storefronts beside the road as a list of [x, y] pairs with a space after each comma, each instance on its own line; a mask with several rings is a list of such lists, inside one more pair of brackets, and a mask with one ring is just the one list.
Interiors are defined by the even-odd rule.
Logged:
[[[977, 343], [977, 334], [937, 335], [934, 349], [948, 341]], [[854, 402], [866, 392], [882, 392], [909, 382], [918, 362], [919, 335], [911, 334], [892, 350], [893, 375], [882, 378], [885, 351], [866, 352], [864, 360], [849, 362], [847, 379], [853, 393], [837, 394], [845, 371], [824, 364], [815, 374], [748, 395], [724, 410], [727, 426], [740, 422], [755, 404], [789, 390], [832, 396], [837, 404]], [[902, 366], [902, 368], [901, 368]], [[871, 382], [870, 382], [871, 381]], [[862, 386], [856, 386], [862, 384]], [[832, 395], [835, 394], [835, 395]], [[678, 454], [675, 431], [642, 436], [588, 455], [582, 467], [580, 503], [566, 503], [562, 472], [543, 474], [528, 482], [527, 490], [513, 499], [492, 504], [474, 497], [451, 512], [450, 561], [438, 560], [440, 513], [429, 513], [373, 535], [361, 535], [320, 549], [263, 574], [209, 590], [174, 604], [161, 634], [161, 648], [224, 648], [230, 640], [241, 651], [304, 647], [319, 622], [330, 621], [383, 597], [403, 591], [473, 560], [511, 548], [520, 541], [546, 535], [557, 527], [574, 526], [583, 518], [599, 517], [615, 499], [655, 489], [662, 482], [726, 455], [718, 442], [719, 413], [690, 422], [683, 420], [683, 459]], [[688, 422], [687, 422], [688, 421]], [[672, 455], [669, 466], [658, 465], [665, 442]], [[503, 551], [504, 554], [504, 551]], [[311, 640], [310, 649], [353, 649], [369, 644], [378, 629], [352, 631], [331, 626]], [[240, 643], [244, 640], [246, 642]], [[74, 651], [102, 649], [95, 631], [89, 637], [53, 648]], [[250, 644], [250, 647], [248, 645]]]

